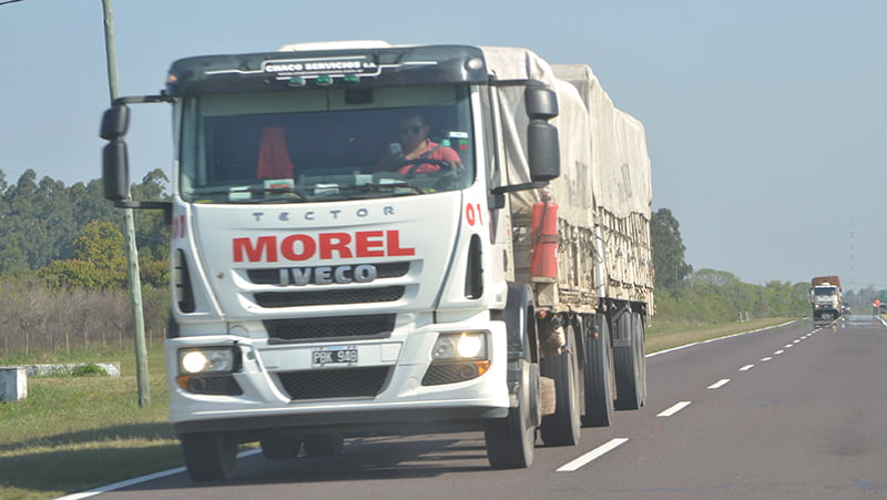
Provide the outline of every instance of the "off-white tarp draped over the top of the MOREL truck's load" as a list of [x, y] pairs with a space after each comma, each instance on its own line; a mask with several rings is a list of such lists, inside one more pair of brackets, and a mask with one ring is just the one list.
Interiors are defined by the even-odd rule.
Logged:
[[[533, 52], [517, 48], [482, 48], [490, 72], [499, 80], [539, 80], [558, 94], [560, 114], [551, 121], [560, 133], [561, 176], [551, 182], [561, 216], [580, 222], [600, 206], [618, 217], [631, 213], [650, 218], [653, 201], [650, 157], [641, 122], [616, 110], [585, 64], [550, 65]], [[504, 129], [508, 180], [529, 182], [526, 155], [527, 114], [521, 86], [499, 88]], [[512, 195], [517, 213], [539, 200], [534, 191]]]

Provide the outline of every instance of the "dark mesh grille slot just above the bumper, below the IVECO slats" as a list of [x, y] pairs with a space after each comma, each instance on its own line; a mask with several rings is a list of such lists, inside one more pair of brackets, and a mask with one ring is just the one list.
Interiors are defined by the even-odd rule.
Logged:
[[395, 315], [267, 319], [262, 323], [272, 340], [381, 338], [390, 336], [395, 329]]

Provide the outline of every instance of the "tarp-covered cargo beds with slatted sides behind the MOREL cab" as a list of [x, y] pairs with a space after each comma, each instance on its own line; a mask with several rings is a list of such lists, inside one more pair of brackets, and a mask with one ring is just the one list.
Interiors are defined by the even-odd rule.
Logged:
[[[560, 221], [552, 302], [594, 307], [609, 297], [652, 307], [653, 195], [643, 125], [613, 106], [588, 65], [551, 65], [526, 49], [482, 50], [498, 80], [538, 80], [558, 95], [559, 115], [551, 123], [560, 133], [561, 176], [548, 187]], [[522, 88], [498, 92], [508, 183], [530, 182]], [[541, 196], [539, 190], [511, 194], [518, 224]]]

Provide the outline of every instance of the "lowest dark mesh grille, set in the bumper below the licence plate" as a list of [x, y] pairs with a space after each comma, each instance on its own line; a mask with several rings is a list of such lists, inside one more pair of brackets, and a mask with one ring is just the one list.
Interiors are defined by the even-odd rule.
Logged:
[[390, 367], [343, 368], [277, 374], [289, 399], [373, 397], [381, 392]]

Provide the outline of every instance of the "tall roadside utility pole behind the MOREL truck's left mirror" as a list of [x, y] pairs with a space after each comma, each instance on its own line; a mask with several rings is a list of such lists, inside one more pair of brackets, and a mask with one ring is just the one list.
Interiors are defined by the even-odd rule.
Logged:
[[[108, 89], [111, 103], [120, 98], [118, 86], [118, 57], [114, 47], [114, 13], [111, 0], [102, 0], [104, 8], [104, 48], [108, 59]], [[132, 196], [126, 196], [129, 200]], [[139, 386], [139, 407], [151, 406], [151, 387], [147, 378], [147, 349], [145, 348], [145, 319], [142, 310], [142, 279], [139, 276], [139, 249], [135, 247], [135, 223], [132, 208], [123, 208], [126, 274], [130, 283], [130, 305], [135, 327], [135, 378]]]

